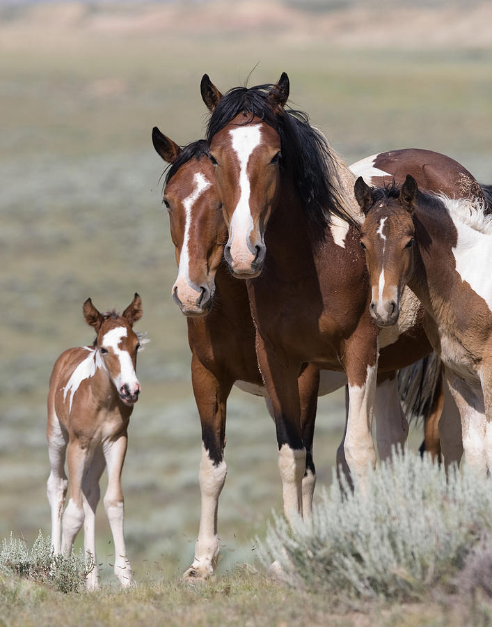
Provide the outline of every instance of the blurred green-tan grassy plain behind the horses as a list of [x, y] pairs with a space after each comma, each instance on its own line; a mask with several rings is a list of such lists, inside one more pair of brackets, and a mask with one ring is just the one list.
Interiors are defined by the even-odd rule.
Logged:
[[[138, 291], [138, 329], [152, 343], [139, 359], [143, 394], [123, 477], [127, 548], [137, 579], [174, 577], [189, 565], [198, 531], [200, 426], [186, 321], [170, 300], [175, 260], [152, 126], [179, 144], [202, 137], [203, 72], [225, 90], [259, 63], [250, 84], [286, 70], [294, 106], [347, 162], [416, 146], [492, 183], [492, 48], [389, 53], [278, 33], [120, 33], [65, 23], [56, 10], [0, 22], [0, 538], [13, 531], [32, 543], [38, 529], [49, 534], [47, 381], [62, 350], [93, 339], [82, 303], [90, 296], [100, 309], [121, 310]], [[320, 483], [331, 479], [342, 420], [342, 395], [323, 399]], [[275, 433], [262, 401], [233, 392], [227, 433], [222, 573], [252, 561], [251, 539], [281, 504]], [[98, 561], [109, 564], [109, 526], [98, 514]], [[200, 603], [224, 594], [215, 590], [197, 593]]]

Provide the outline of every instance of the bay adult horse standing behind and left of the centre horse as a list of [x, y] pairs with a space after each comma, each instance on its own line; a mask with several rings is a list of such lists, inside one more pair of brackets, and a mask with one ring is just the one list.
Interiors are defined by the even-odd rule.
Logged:
[[[202, 510], [193, 564], [184, 573], [203, 580], [214, 573], [219, 555], [217, 509], [227, 467], [225, 446], [226, 403], [232, 385], [266, 396], [255, 353], [255, 327], [244, 281], [231, 276], [223, 262], [227, 227], [215, 189], [214, 166], [208, 144], [196, 141], [184, 148], [157, 127], [152, 131], [157, 153], [170, 164], [164, 199], [175, 245], [178, 275], [171, 290], [173, 300], [188, 318], [193, 392], [202, 425], [200, 491]], [[322, 371], [303, 364], [298, 379], [301, 431], [306, 447], [302, 479], [303, 514], [309, 516], [315, 487], [312, 439], [316, 392], [327, 394], [346, 383], [344, 373]], [[267, 406], [268, 406], [268, 399]], [[376, 388], [379, 454], [390, 454], [392, 444], [404, 444], [406, 421], [401, 414], [395, 378], [384, 378]], [[338, 460], [342, 463], [343, 448]]]

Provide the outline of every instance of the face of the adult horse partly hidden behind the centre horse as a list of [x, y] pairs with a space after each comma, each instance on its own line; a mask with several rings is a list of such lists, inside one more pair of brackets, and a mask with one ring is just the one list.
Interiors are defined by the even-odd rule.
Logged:
[[166, 185], [164, 203], [178, 266], [173, 300], [185, 316], [204, 316], [227, 238], [212, 162], [201, 157], [183, 164]]

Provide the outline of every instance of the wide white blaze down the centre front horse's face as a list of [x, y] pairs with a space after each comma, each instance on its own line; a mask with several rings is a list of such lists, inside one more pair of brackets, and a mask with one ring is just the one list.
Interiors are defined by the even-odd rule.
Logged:
[[[237, 251], [248, 249], [248, 237], [253, 229], [253, 217], [249, 206], [251, 187], [248, 178], [248, 162], [253, 150], [260, 144], [260, 125], [239, 126], [230, 131], [232, 148], [239, 160], [239, 201], [230, 222], [230, 238], [232, 258]], [[237, 242], [237, 244], [235, 244]]]

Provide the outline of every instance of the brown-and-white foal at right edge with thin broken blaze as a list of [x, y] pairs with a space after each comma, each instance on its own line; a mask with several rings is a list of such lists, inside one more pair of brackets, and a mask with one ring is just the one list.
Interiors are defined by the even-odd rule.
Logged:
[[367, 215], [360, 234], [372, 285], [371, 313], [393, 323], [405, 285], [426, 311], [427, 335], [445, 364], [461, 415], [464, 459], [492, 470], [492, 218], [481, 200], [355, 186]]

